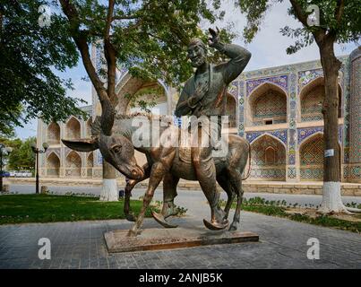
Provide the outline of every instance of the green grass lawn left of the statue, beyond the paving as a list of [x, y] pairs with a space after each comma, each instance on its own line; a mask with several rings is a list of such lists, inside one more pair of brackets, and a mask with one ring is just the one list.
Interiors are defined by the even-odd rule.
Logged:
[[[123, 200], [101, 202], [98, 197], [6, 195], [0, 196], [0, 224], [124, 219], [123, 205]], [[139, 213], [142, 201], [131, 200], [131, 207]]]

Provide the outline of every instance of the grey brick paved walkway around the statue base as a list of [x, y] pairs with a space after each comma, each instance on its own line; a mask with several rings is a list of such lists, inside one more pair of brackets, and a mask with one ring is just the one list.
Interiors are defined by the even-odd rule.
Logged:
[[[204, 197], [192, 191], [179, 192], [177, 204], [188, 208], [187, 216], [174, 219], [179, 225], [202, 226], [202, 218], [210, 216]], [[241, 214], [241, 230], [258, 233], [260, 242], [108, 254], [103, 233], [131, 224], [111, 220], [0, 226], [0, 268], [361, 268], [359, 234], [246, 212]], [[159, 225], [145, 220], [144, 228], [150, 227]], [[50, 260], [38, 257], [40, 238], [51, 241]], [[320, 242], [319, 260], [306, 256], [310, 238]]]

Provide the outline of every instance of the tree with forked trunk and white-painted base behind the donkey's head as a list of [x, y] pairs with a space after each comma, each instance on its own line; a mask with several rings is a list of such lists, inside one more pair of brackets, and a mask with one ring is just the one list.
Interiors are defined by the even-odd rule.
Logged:
[[[69, 22], [70, 34], [82, 55], [82, 63], [97, 91], [102, 109], [105, 105], [125, 113], [129, 97], [116, 95], [116, 67], [142, 79], [163, 79], [182, 83], [191, 74], [185, 46], [192, 36], [204, 37], [198, 23], [211, 23], [224, 13], [214, 13], [205, 0], [71, 1], [59, 0]], [[218, 11], [220, 1], [212, 2]], [[223, 31], [223, 34], [225, 31]], [[91, 63], [89, 45], [96, 43], [104, 50], [105, 68], [96, 70]], [[104, 79], [104, 80], [103, 80]], [[103, 115], [111, 123], [112, 113]], [[111, 135], [112, 126], [103, 133]], [[104, 161], [103, 198], [117, 199], [115, 170]]]

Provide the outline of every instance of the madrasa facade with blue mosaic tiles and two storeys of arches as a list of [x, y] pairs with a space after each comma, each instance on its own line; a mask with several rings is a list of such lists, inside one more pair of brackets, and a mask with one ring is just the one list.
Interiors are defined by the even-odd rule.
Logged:
[[[98, 66], [101, 51], [93, 47], [91, 57]], [[361, 48], [339, 57], [339, 144], [342, 182], [361, 182]], [[162, 81], [144, 82], [126, 70], [117, 71], [116, 92], [152, 100], [152, 112], [172, 115], [178, 93]], [[229, 84], [228, 132], [251, 143], [251, 170], [246, 181], [322, 181], [324, 79], [320, 61], [247, 71]], [[90, 124], [101, 108], [92, 88], [92, 105], [82, 107], [87, 120], [76, 116], [64, 123], [38, 122], [38, 144], [48, 143], [40, 154], [42, 178], [102, 177], [99, 150], [75, 152], [61, 139], [90, 137]], [[127, 112], [139, 108], [129, 105]], [[136, 154], [139, 164], [144, 157]], [[121, 175], [118, 175], [121, 177]]]

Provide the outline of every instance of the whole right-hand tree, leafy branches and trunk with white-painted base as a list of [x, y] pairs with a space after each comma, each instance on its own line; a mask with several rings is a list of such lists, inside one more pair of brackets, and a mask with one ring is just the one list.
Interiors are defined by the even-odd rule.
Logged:
[[[282, 2], [273, 1], [275, 2]], [[289, 0], [291, 8], [288, 13], [302, 23], [302, 28], [291, 29], [288, 26], [281, 33], [296, 38], [295, 45], [287, 49], [288, 54], [314, 41], [320, 50], [324, 75], [325, 98], [322, 105], [324, 120], [324, 149], [333, 150], [333, 155], [324, 158], [323, 196], [319, 212], [347, 212], [342, 204], [340, 194], [340, 153], [338, 143], [338, 76], [340, 60], [335, 57], [334, 44], [357, 41], [361, 34], [361, 0]], [[246, 14], [248, 24], [245, 27], [245, 39], [251, 41], [260, 29], [262, 19], [271, 7], [271, 1], [239, 0], [241, 11]], [[316, 5], [320, 11], [320, 24], [311, 21], [310, 5]], [[311, 15], [313, 16], [313, 15]], [[317, 19], [315, 19], [317, 22]]]

